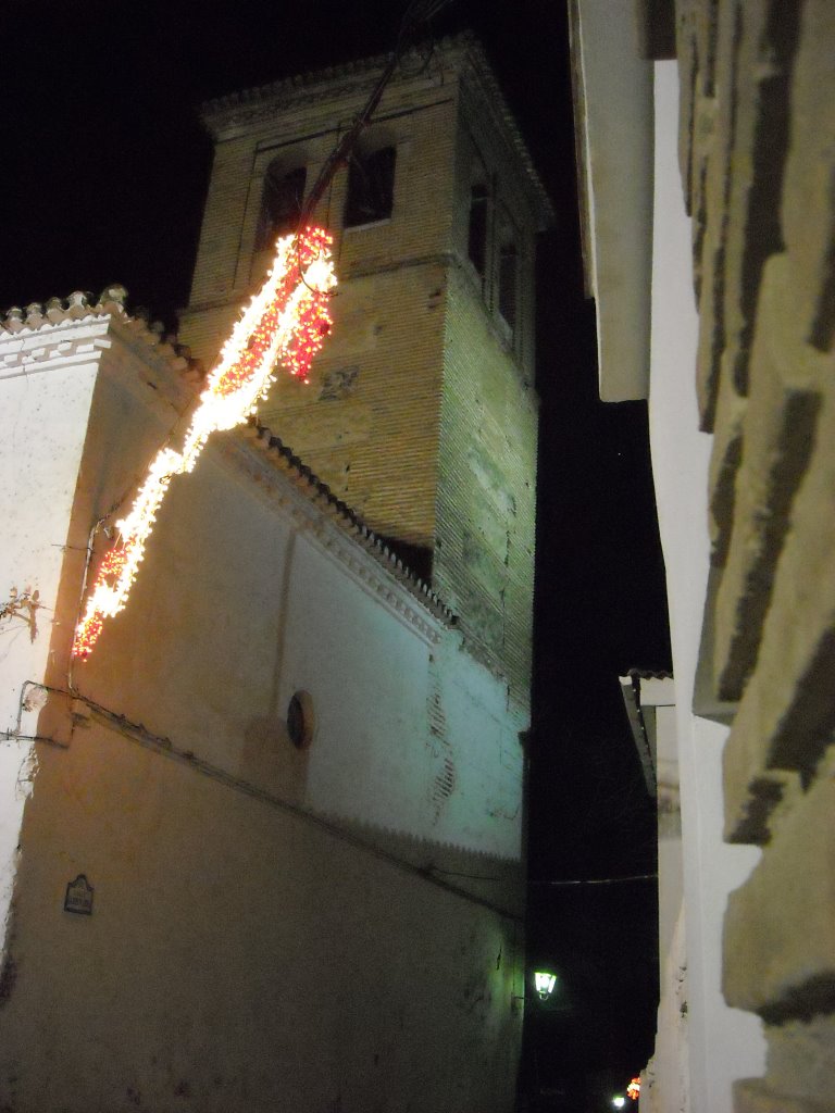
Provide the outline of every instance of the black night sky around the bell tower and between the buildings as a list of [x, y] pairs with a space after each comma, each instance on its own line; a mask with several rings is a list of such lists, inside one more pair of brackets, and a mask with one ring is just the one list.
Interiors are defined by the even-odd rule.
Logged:
[[[200, 101], [393, 46], [405, 0], [17, 0], [3, 13], [0, 306], [112, 282], [169, 327], [186, 304], [210, 167]], [[452, 0], [432, 32], [482, 39], [557, 227], [539, 258], [537, 673], [529, 955], [561, 997], [529, 1013], [524, 1077], [603, 1109], [651, 1051], [655, 814], [617, 677], [669, 668], [642, 403], [597, 397], [582, 292], [564, 6]], [[607, 1075], [607, 1072], [609, 1074]], [[592, 1077], [593, 1076], [593, 1077]], [[598, 1087], [599, 1101], [592, 1095]], [[609, 1093], [611, 1090], [609, 1089]], [[591, 1095], [591, 1096], [590, 1096]], [[610, 1107], [610, 1106], [609, 1106]]]

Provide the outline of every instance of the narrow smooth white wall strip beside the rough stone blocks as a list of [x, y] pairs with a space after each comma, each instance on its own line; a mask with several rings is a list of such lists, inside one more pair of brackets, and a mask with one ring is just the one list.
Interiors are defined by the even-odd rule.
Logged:
[[696, 408], [698, 321], [678, 169], [676, 62], [655, 65], [655, 112], [649, 413], [678, 709], [690, 1109], [730, 1113], [733, 1080], [762, 1073], [765, 1045], [759, 1021], [728, 1008], [721, 996], [723, 917], [728, 893], [745, 880], [759, 851], [721, 839], [720, 758], [728, 731], [691, 710], [708, 577], [710, 437], [698, 432]]

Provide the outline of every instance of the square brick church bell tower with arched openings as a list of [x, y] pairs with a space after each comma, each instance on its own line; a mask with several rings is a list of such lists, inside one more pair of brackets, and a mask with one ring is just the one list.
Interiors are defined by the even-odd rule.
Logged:
[[[209, 365], [276, 236], [385, 66], [374, 58], [206, 106], [215, 140], [180, 337]], [[404, 58], [314, 219], [334, 235], [334, 328], [308, 385], [259, 421], [530, 689], [534, 239], [551, 207], [480, 46]]]

